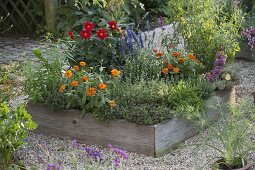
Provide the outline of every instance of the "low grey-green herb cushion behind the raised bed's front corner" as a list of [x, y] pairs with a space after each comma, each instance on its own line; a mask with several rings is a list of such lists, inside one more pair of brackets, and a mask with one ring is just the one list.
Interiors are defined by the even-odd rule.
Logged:
[[165, 103], [168, 85], [163, 81], [126, 82], [115, 91], [119, 113], [124, 119], [138, 124], [153, 125], [173, 117], [172, 110]]

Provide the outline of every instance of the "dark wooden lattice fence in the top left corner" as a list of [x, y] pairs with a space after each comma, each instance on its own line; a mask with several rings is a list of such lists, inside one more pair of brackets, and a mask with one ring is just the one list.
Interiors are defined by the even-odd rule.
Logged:
[[12, 32], [28, 33], [45, 25], [43, 0], [0, 0], [0, 17], [7, 14], [1, 25], [13, 25]]

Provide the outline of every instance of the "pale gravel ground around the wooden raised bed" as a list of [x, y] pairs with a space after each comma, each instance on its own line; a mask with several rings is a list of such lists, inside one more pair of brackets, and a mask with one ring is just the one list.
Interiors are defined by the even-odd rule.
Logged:
[[[23, 43], [28, 41], [23, 45], [18, 45], [18, 43]], [[15, 60], [16, 58], [21, 57], [22, 49], [26, 49], [25, 52], [31, 51], [32, 48], [37, 47], [38, 43], [35, 41], [30, 41], [29, 39], [15, 40], [9, 42], [17, 46], [9, 47], [4, 45], [4, 39], [0, 39], [0, 63], [9, 63], [10, 60]], [[18, 42], [15, 42], [18, 41]], [[31, 42], [31, 43], [30, 43]], [[17, 48], [19, 50], [17, 50]], [[11, 51], [11, 53], [10, 53]], [[12, 52], [14, 52], [12, 54]], [[17, 57], [19, 56], [19, 57]], [[251, 93], [255, 91], [255, 63], [254, 62], [245, 62], [237, 61], [237, 65], [240, 68], [240, 84], [237, 85], [237, 100], [239, 101], [242, 96], [248, 96], [252, 100]], [[219, 126], [216, 123], [216, 126]], [[192, 137], [185, 141], [185, 144], [196, 144], [201, 143], [207, 136], [207, 130], [200, 133], [199, 135]], [[255, 141], [254, 141], [255, 142]], [[24, 160], [25, 162], [29, 161], [30, 163], [37, 163], [38, 156], [42, 156], [43, 159], [46, 159], [45, 152], [39, 147], [38, 144], [45, 145], [52, 152], [52, 156], [56, 160], [61, 160], [65, 164], [68, 161], [69, 157], [67, 153], [70, 151], [71, 141], [61, 140], [58, 138], [47, 137], [44, 135], [39, 135], [35, 133], [30, 133], [26, 139], [25, 145], [19, 150], [18, 157]], [[100, 146], [96, 146], [100, 147]], [[220, 146], [219, 146], [220, 147]], [[106, 149], [104, 149], [105, 152]], [[195, 146], [189, 146], [185, 148], [179, 148], [173, 150], [169, 154], [166, 154], [160, 158], [151, 158], [144, 155], [128, 153], [129, 160], [124, 165], [122, 169], [134, 169], [134, 170], [195, 170], [201, 167], [201, 165], [206, 164], [206, 162], [213, 156], [216, 156], [213, 150], [209, 148], [196, 148]], [[250, 153], [250, 160], [255, 161], [255, 154]], [[71, 165], [67, 163], [67, 169], [72, 169]], [[43, 165], [39, 169], [45, 169]], [[205, 167], [203, 169], [208, 169]]]

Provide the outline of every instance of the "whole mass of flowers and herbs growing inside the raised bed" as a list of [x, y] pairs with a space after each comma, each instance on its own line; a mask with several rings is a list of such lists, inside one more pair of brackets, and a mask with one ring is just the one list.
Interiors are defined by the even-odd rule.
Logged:
[[[153, 125], [177, 116], [200, 121], [206, 112], [205, 100], [216, 86], [230, 86], [234, 80], [232, 69], [227, 70], [224, 52], [216, 55], [213, 70], [206, 73], [207, 65], [175, 45], [167, 45], [163, 48], [165, 51], [146, 49], [141, 46], [142, 39], [134, 46], [136, 37], [129, 39], [132, 37], [130, 27], [126, 32], [121, 31], [114, 21], [95, 33], [94, 27], [86, 21], [80, 36], [69, 32], [72, 45], [60, 42], [44, 53], [34, 51], [39, 62], [24, 68], [25, 91], [32, 102], [46, 103], [53, 109], [78, 109], [82, 115], [92, 113], [98, 120], [126, 119]], [[118, 45], [120, 38], [129, 52], [121, 53], [124, 46]], [[112, 44], [113, 41], [116, 44]], [[81, 47], [89, 43], [93, 48]], [[99, 58], [90, 55], [93, 49], [102, 50], [101, 45], [95, 43], [108, 49], [100, 53], [101, 63]], [[83, 57], [76, 58], [77, 52], [70, 47], [81, 48], [79, 53]], [[122, 65], [120, 60], [108, 58], [111, 53], [125, 54], [121, 58]]]

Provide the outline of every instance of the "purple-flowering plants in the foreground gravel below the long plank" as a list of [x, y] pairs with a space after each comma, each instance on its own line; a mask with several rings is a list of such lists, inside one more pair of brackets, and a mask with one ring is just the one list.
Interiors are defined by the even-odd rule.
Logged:
[[[59, 160], [53, 159], [53, 152], [47, 147], [40, 145], [40, 148], [46, 155], [46, 159], [38, 156], [38, 165], [43, 164], [47, 170], [64, 170], [67, 167]], [[122, 169], [122, 164], [128, 159], [128, 155], [124, 150], [108, 145], [108, 151], [96, 147], [84, 147], [82, 144], [73, 140], [68, 147], [71, 151], [67, 162], [71, 163], [72, 169], [78, 170], [89, 169]], [[70, 167], [69, 167], [70, 168]], [[39, 166], [35, 167], [39, 169]]]

